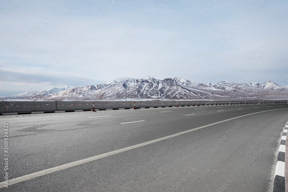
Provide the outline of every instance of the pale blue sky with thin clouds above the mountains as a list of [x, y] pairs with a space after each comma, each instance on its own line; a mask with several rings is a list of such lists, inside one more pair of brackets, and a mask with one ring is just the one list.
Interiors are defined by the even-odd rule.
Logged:
[[147, 75], [287, 85], [287, 7], [284, 0], [2, 0], [0, 96], [31, 84], [37, 91]]

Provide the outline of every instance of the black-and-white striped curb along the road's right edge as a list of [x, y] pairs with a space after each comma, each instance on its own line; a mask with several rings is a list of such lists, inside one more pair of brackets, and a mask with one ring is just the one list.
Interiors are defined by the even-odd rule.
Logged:
[[273, 192], [285, 192], [285, 149], [286, 149], [286, 135], [288, 123], [283, 131], [278, 157], [276, 164], [276, 171], [274, 177]]

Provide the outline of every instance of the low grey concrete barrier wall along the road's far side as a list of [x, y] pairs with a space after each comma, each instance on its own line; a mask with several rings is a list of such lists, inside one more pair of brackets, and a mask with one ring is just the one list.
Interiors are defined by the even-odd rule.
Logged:
[[[0, 113], [25, 113], [36, 111], [73, 111], [91, 110], [94, 102], [95, 109], [119, 109], [133, 108], [133, 101], [1, 101]], [[185, 101], [179, 100], [179, 106], [217, 105], [230, 104], [230, 101]], [[258, 103], [287, 103], [287, 100], [238, 100], [231, 101], [231, 104], [258, 104]], [[177, 106], [176, 100], [169, 101], [135, 101], [136, 108], [140, 107], [173, 107]]]

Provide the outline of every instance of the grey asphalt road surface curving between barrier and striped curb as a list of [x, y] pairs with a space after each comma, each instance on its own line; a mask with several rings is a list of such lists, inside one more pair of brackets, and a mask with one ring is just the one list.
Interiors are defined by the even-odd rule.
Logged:
[[[10, 155], [9, 182], [24, 176], [9, 188], [2, 183], [0, 191], [269, 191], [288, 121], [288, 104], [11, 115], [0, 119], [1, 156]], [[8, 153], [4, 153], [4, 123], [9, 123]], [[156, 140], [166, 136], [171, 137]], [[134, 147], [119, 150], [130, 146]], [[81, 161], [111, 151], [116, 152]], [[55, 168], [75, 161], [75, 166]], [[0, 167], [2, 182], [4, 160]], [[50, 168], [55, 170], [41, 176], [37, 173]]]

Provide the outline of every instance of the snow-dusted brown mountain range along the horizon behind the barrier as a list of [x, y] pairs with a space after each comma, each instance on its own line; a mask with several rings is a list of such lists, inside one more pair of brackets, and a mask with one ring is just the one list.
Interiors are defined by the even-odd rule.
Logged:
[[245, 99], [287, 100], [288, 85], [281, 86], [273, 81], [264, 83], [199, 83], [182, 78], [163, 80], [147, 76], [143, 79], [111, 81], [84, 87], [53, 88], [30, 91], [1, 97], [1, 99], [30, 100], [113, 100], [113, 99]]

